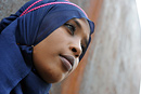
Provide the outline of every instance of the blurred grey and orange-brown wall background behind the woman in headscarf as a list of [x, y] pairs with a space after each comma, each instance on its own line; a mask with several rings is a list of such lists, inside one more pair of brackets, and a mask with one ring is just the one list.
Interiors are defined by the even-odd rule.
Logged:
[[[28, 0], [0, 0], [0, 19]], [[139, 94], [141, 27], [136, 0], [70, 0], [95, 23], [79, 67], [50, 94]], [[137, 0], [139, 1], [139, 0]]]

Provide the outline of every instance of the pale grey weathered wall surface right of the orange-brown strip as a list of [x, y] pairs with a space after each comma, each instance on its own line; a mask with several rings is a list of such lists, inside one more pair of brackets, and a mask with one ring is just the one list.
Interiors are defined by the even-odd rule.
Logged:
[[141, 29], [134, 0], [104, 0], [80, 94], [139, 94]]

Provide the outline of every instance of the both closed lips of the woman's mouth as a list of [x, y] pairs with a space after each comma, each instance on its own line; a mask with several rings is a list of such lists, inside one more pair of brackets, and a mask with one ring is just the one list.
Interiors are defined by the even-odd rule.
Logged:
[[60, 57], [67, 71], [72, 70], [75, 63], [75, 58], [70, 55], [60, 55]]

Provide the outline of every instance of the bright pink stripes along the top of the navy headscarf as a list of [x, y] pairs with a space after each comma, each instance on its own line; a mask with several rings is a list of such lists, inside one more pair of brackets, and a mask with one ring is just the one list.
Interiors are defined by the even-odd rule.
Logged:
[[[84, 14], [87, 16], [86, 12], [85, 12], [80, 6], [78, 6], [78, 5], [74, 4], [74, 3], [70, 3], [70, 2], [50, 2], [50, 3], [41, 4], [41, 5], [36, 6], [36, 8], [34, 8], [34, 9], [30, 9], [31, 6], [34, 6], [35, 4], [37, 4], [37, 3], [40, 2], [40, 1], [42, 1], [42, 0], [38, 0], [38, 1], [36, 1], [35, 3], [33, 3], [31, 5], [29, 5], [29, 6], [21, 14], [21, 16], [23, 16], [23, 15], [25, 15], [25, 14], [31, 12], [31, 11], [35, 11], [35, 10], [37, 10], [37, 9], [40, 9], [40, 8], [43, 8], [43, 6], [47, 6], [47, 5], [53, 5], [53, 4], [69, 4], [69, 5], [74, 5], [74, 6], [78, 8], [79, 10], [81, 10], [81, 11], [84, 12]], [[30, 10], [29, 10], [29, 9], [30, 9]], [[88, 17], [88, 16], [87, 16], [87, 17]]]

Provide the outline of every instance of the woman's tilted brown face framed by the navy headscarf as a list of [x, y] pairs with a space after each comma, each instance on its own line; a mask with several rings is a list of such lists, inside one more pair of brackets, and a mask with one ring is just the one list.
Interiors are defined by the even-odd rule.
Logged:
[[87, 19], [74, 18], [34, 46], [34, 65], [48, 83], [62, 81], [78, 66], [87, 48], [90, 28]]

